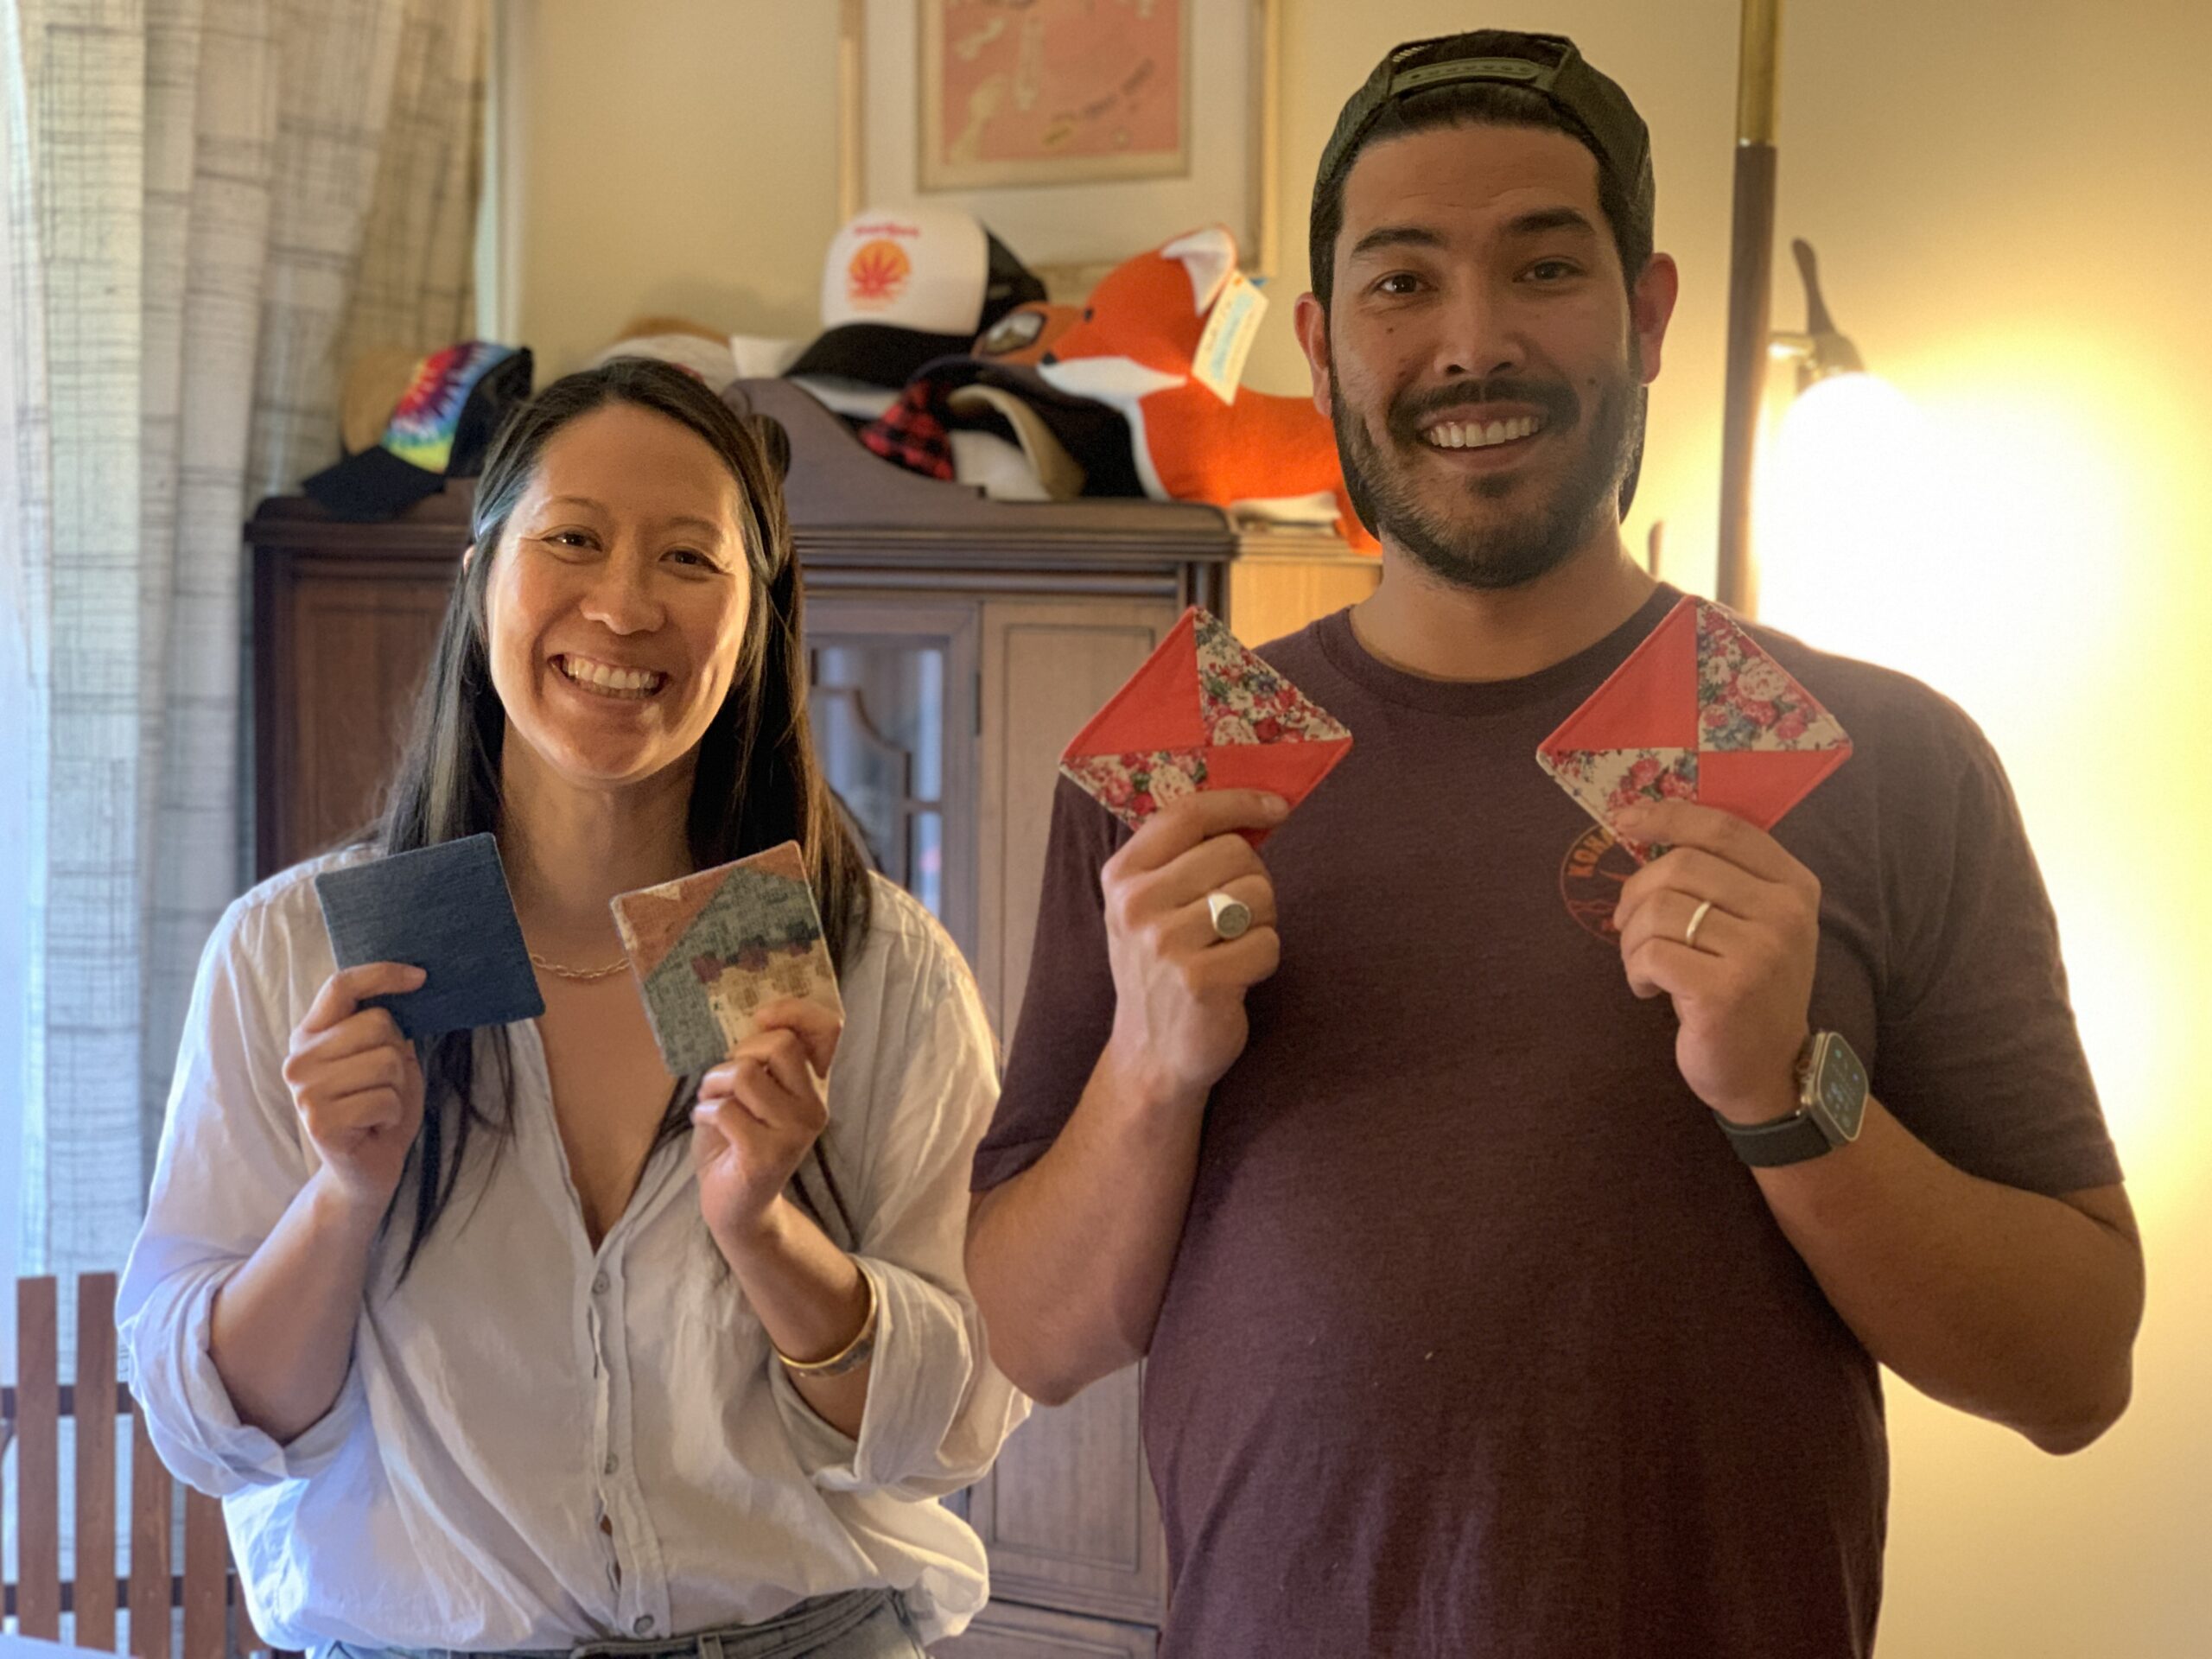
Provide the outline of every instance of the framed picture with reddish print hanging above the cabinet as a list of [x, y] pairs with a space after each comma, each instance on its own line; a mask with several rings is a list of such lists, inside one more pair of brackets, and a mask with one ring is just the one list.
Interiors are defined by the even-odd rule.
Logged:
[[947, 201], [1055, 296], [1206, 223], [1276, 265], [1279, 0], [843, 0], [838, 210]]

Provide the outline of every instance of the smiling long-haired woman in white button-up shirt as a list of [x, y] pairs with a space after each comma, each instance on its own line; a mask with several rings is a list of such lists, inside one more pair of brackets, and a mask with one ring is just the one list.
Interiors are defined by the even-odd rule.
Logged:
[[[991, 1037], [836, 814], [803, 664], [763, 434], [573, 374], [487, 458], [374, 845], [210, 940], [122, 1325], [276, 1646], [858, 1659], [982, 1604], [933, 1500], [1024, 1409], [960, 1267]], [[365, 998], [420, 969], [334, 971], [312, 876], [484, 830], [546, 1011], [416, 1053]], [[670, 1077], [608, 900], [794, 838], [843, 1033], [785, 1002]]]

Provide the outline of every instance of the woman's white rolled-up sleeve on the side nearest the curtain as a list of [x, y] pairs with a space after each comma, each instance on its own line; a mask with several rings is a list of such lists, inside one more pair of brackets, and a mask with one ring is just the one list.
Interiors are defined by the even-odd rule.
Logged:
[[177, 1053], [146, 1225], [117, 1292], [131, 1391], [161, 1462], [217, 1498], [305, 1480], [363, 1409], [352, 1380], [321, 1422], [288, 1444], [239, 1420], [215, 1369], [215, 1296], [261, 1248], [310, 1175], [283, 1082], [285, 1009], [265, 993], [265, 916], [226, 914], [199, 962]]

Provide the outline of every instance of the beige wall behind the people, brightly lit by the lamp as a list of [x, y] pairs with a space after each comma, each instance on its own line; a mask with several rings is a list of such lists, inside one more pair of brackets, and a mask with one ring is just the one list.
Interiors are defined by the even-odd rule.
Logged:
[[[836, 221], [834, 13], [531, 9], [509, 60], [513, 257], [549, 367], [646, 307], [807, 332]], [[1394, 40], [1469, 11], [1283, 0], [1283, 20], [1285, 272], [1250, 378], [1287, 392], [1336, 106]], [[1482, 20], [1577, 35], [1650, 119], [1683, 303], [1630, 540], [1663, 518], [1668, 575], [1705, 588], [1734, 7], [1511, 0]], [[1785, 24], [1783, 230], [1818, 243], [1840, 325], [1940, 456], [1902, 513], [1887, 473], [1827, 480], [1814, 518], [1869, 513], [1867, 557], [1798, 571], [1814, 597], [1787, 624], [1924, 672], [2006, 754], [2152, 1267], [2137, 1405], [2079, 1458], [1891, 1385], [1885, 1659], [2212, 1652], [2212, 1117], [2194, 1053], [2212, 1024], [2212, 529], [2190, 487], [2212, 449], [2208, 58], [2212, 9], [2192, 0], [1801, 0]], [[1787, 265], [1776, 321], [1803, 321]]]

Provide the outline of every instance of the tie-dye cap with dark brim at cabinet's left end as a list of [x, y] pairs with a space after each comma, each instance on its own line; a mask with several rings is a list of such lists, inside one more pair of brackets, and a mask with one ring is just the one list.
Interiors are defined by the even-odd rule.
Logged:
[[385, 436], [307, 478], [332, 518], [398, 518], [447, 478], [473, 478], [507, 414], [531, 396], [529, 347], [462, 341], [420, 358]]

